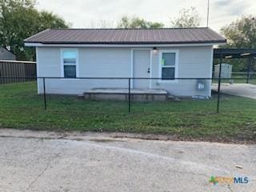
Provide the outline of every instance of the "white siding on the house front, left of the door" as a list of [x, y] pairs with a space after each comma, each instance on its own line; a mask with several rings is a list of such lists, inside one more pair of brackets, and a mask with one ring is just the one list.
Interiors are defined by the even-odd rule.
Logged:
[[[38, 48], [38, 76], [61, 77], [61, 49]], [[130, 49], [128, 48], [79, 48], [78, 68], [80, 78], [129, 78]], [[38, 93], [42, 94], [42, 81]], [[49, 79], [46, 78], [48, 94], [82, 94], [92, 88], [126, 88], [127, 80], [120, 79]]]

